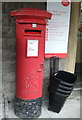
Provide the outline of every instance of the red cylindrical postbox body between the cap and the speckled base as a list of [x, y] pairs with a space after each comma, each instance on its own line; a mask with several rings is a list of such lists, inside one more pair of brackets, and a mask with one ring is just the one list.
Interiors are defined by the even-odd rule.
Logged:
[[17, 23], [16, 28], [16, 96], [36, 99], [42, 96], [45, 25]]

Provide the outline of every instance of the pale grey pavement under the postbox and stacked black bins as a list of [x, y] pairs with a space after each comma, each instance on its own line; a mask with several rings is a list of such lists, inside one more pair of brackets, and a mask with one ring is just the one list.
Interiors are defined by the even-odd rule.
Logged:
[[[66, 100], [60, 113], [48, 111], [48, 97], [43, 99], [42, 113], [39, 118], [80, 118], [80, 90], [73, 90], [70, 97]], [[14, 114], [14, 102], [8, 103], [6, 114], [8, 118], [17, 118]], [[3, 111], [4, 112], [4, 111]]]

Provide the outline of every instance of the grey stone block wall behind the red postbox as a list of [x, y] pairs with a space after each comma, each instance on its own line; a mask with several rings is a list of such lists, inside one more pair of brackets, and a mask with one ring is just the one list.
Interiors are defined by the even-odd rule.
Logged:
[[[15, 54], [16, 54], [16, 38], [15, 38], [15, 22], [10, 17], [10, 11], [19, 8], [39, 8], [46, 9], [46, 3], [24, 3], [24, 2], [4, 2], [2, 3], [2, 78], [3, 78], [3, 95], [12, 101], [15, 95]], [[59, 60], [59, 69], [64, 69], [65, 59]], [[49, 83], [50, 60], [45, 59], [43, 96], [47, 96], [47, 86]]]

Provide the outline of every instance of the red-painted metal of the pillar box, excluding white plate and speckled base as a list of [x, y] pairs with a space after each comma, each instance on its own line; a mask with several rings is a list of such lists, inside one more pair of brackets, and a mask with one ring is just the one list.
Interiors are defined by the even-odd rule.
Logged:
[[[36, 99], [42, 96], [45, 29], [51, 13], [28, 8], [10, 14], [16, 19], [16, 97]], [[29, 40], [38, 40], [38, 56], [27, 56]]]

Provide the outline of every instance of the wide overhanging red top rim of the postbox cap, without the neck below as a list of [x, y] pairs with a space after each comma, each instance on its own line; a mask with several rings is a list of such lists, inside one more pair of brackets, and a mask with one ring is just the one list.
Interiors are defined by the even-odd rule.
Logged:
[[52, 14], [44, 11], [44, 10], [40, 10], [40, 9], [36, 9], [36, 8], [22, 8], [22, 9], [17, 9], [14, 11], [10, 12], [10, 15], [12, 17], [40, 17], [40, 18], [47, 18], [50, 19]]

